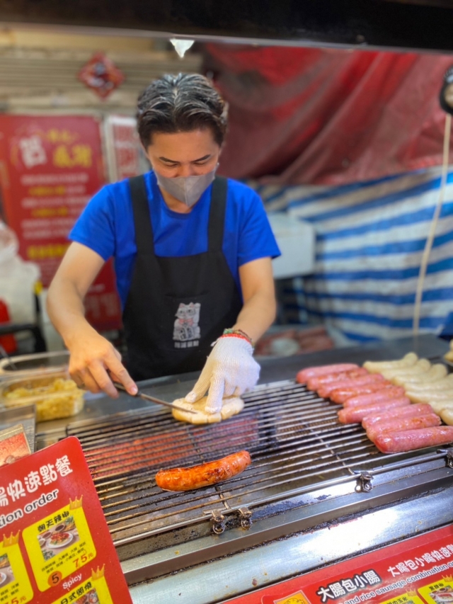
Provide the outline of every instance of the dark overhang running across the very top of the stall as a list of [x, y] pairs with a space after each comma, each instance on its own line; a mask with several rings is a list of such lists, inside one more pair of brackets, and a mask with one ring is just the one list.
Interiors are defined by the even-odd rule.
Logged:
[[0, 22], [453, 52], [449, 0], [0, 0]]

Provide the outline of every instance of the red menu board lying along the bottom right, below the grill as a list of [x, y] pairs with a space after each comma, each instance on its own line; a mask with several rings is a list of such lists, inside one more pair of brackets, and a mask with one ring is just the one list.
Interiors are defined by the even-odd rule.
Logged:
[[453, 525], [228, 602], [452, 604]]

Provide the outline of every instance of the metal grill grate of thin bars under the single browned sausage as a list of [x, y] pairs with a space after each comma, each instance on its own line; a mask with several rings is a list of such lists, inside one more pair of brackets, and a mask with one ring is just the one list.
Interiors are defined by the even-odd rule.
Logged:
[[[302, 384], [275, 382], [244, 398], [241, 414], [208, 426], [175, 423], [160, 409], [68, 426], [84, 448], [115, 545], [199, 523], [212, 510], [228, 514], [281, 501], [396, 457], [380, 454], [360, 425], [340, 424], [339, 406]], [[242, 449], [253, 463], [227, 482], [183, 493], [156, 486], [161, 468]]]

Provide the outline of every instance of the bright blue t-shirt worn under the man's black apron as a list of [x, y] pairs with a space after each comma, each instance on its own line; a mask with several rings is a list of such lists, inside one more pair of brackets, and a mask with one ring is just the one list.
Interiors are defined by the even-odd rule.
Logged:
[[[212, 185], [187, 214], [173, 212], [164, 202], [154, 172], [144, 175], [156, 256], [193, 256], [207, 251], [207, 225]], [[104, 186], [86, 205], [69, 233], [105, 261], [115, 258], [117, 290], [124, 309], [132, 282], [135, 244], [132, 200], [127, 180]], [[263, 202], [253, 189], [228, 181], [223, 253], [241, 292], [239, 266], [280, 256]]]

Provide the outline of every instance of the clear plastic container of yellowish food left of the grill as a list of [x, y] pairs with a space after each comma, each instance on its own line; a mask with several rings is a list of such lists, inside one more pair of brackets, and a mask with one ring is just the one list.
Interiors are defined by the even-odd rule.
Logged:
[[6, 409], [35, 405], [36, 421], [71, 417], [84, 409], [84, 392], [66, 372], [0, 382], [0, 403]]

